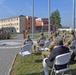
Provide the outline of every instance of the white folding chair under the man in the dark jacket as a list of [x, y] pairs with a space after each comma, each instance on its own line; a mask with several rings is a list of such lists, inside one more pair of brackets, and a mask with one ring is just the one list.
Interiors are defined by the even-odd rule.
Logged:
[[[52, 75], [53, 72], [55, 73], [55, 75], [57, 75], [57, 74], [64, 75], [64, 73], [66, 71], [69, 71], [70, 70], [70, 66], [69, 66], [68, 63], [69, 63], [70, 58], [71, 58], [71, 52], [56, 56], [50, 75]], [[64, 65], [64, 64], [67, 64], [66, 68], [60, 69], [60, 70], [56, 70], [55, 65]], [[69, 73], [71, 75], [71, 71]]]

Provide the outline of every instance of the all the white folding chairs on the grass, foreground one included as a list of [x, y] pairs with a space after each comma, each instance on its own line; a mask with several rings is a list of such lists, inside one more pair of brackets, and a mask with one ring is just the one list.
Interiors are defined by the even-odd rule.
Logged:
[[[45, 44], [45, 46], [48, 47], [49, 44], [50, 44], [50, 42], [48, 41], [48, 42], [45, 43], [45, 40], [42, 40], [42, 41], [40, 42], [40, 44]], [[43, 46], [44, 46], [44, 45], [43, 45]], [[70, 46], [76, 47], [76, 40], [73, 41]], [[45, 47], [44, 47], [44, 48], [45, 48]], [[29, 54], [31, 54], [31, 53], [32, 53], [32, 43], [29, 43], [29, 42], [28, 42], [26, 45], [23, 45], [23, 46], [22, 46], [21, 55], [22, 55], [22, 56], [25, 56], [25, 55], [29, 55]], [[53, 72], [55, 73], [55, 75], [57, 75], [57, 74], [62, 74], [62, 75], [64, 75], [64, 73], [65, 73], [66, 71], [69, 71], [69, 74], [71, 75], [71, 69], [70, 69], [70, 66], [69, 66], [69, 64], [68, 64], [68, 63], [69, 63], [69, 60], [70, 60], [70, 58], [71, 58], [71, 54], [72, 54], [72, 53], [69, 52], [69, 53], [65, 53], [65, 54], [61, 54], [61, 55], [56, 56], [50, 75], [53, 75]], [[64, 64], [66, 64], [66, 63], [67, 63], [67, 67], [66, 67], [66, 68], [60, 69], [60, 70], [56, 70], [55, 65], [64, 65]]]

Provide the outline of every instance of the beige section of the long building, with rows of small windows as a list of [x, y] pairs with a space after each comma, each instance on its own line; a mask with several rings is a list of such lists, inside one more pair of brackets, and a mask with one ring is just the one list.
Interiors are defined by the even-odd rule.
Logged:
[[21, 33], [25, 30], [25, 16], [6, 18], [0, 20], [0, 29], [7, 30], [11, 33]]

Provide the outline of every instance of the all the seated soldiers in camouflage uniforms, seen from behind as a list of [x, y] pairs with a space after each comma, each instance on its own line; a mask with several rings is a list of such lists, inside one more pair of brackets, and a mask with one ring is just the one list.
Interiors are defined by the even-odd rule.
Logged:
[[[39, 44], [40, 40], [46, 40], [45, 36], [44, 36], [44, 33], [41, 32], [40, 33], [40, 37], [37, 38], [37, 44], [33, 43], [33, 51], [36, 51], [37, 49], [37, 46], [43, 46]], [[48, 41], [50, 41], [50, 45], [48, 47], [48, 50], [47, 51], [42, 51], [42, 58], [46, 58], [49, 56], [50, 52], [55, 48], [55, 44], [57, 42], [58, 39], [61, 39], [63, 41], [63, 45], [68, 47], [69, 49], [72, 49], [72, 47], [70, 46], [71, 43], [76, 40], [76, 36], [75, 36], [75, 33], [73, 30], [71, 30], [68, 34], [64, 31], [62, 32], [51, 32], [50, 35], [49, 35], [49, 38], [48, 38]], [[30, 35], [27, 35], [27, 38], [25, 39], [24, 43], [26, 43], [26, 41], [32, 41], [31, 38], [30, 38]], [[38, 49], [39, 50], [39, 49]], [[76, 52], [74, 52], [74, 54], [76, 55]], [[74, 60], [74, 58], [73, 58]]]

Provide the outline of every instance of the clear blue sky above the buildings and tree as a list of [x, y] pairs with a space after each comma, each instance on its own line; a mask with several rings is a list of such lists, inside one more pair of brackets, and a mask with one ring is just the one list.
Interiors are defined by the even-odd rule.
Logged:
[[[50, 14], [58, 9], [62, 26], [72, 27], [73, 0], [50, 1]], [[32, 0], [0, 0], [0, 19], [19, 15], [32, 16]], [[48, 18], [48, 0], [34, 0], [34, 16]]]

